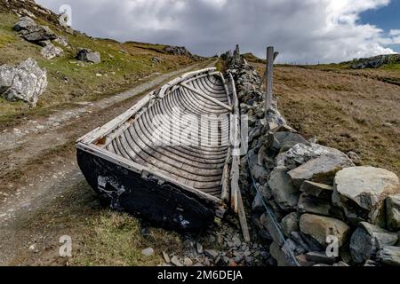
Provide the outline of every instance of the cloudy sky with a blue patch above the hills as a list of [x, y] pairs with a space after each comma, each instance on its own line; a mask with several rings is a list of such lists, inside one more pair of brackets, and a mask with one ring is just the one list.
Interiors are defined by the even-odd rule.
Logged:
[[241, 46], [280, 62], [334, 62], [400, 51], [400, 0], [36, 0], [72, 27], [119, 41], [184, 45], [210, 56]]

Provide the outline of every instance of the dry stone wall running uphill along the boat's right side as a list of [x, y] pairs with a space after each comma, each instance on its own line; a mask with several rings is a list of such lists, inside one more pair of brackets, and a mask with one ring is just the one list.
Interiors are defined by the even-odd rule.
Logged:
[[278, 265], [400, 265], [400, 182], [396, 174], [356, 167], [354, 154], [303, 138], [276, 101], [265, 115], [261, 78], [232, 52], [224, 54], [248, 115], [249, 151], [241, 188], [252, 220]]

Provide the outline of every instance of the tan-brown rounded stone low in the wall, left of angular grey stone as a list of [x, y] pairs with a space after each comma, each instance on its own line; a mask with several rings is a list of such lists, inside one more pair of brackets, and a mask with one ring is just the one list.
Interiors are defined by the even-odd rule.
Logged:
[[341, 247], [348, 241], [351, 229], [343, 221], [332, 217], [303, 214], [300, 217], [300, 231], [324, 247], [328, 236], [336, 236]]

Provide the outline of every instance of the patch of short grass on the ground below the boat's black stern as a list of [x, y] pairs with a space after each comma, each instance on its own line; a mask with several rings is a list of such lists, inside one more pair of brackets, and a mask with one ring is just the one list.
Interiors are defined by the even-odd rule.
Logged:
[[[168, 249], [169, 253], [182, 250], [178, 233], [149, 228], [144, 237], [140, 221], [127, 214], [102, 211], [100, 216], [88, 221], [88, 229], [92, 229], [92, 233], [78, 248], [70, 261], [71, 265], [154, 266], [164, 263], [164, 249]], [[143, 256], [141, 251], [144, 248], [155, 249], [155, 254]]]

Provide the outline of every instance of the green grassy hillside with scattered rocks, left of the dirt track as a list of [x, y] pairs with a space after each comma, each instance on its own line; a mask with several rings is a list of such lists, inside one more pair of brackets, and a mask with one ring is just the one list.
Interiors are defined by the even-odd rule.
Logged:
[[[58, 36], [67, 36], [71, 44], [64, 56], [44, 59], [41, 47], [17, 36], [12, 27], [18, 17], [10, 12], [0, 12], [0, 65], [15, 65], [28, 57], [37, 60], [48, 72], [49, 85], [35, 109], [22, 102], [0, 99], [0, 123], [7, 126], [25, 115], [46, 114], [70, 104], [100, 99], [116, 91], [142, 83], [155, 73], [187, 66], [194, 59], [173, 56], [164, 52], [164, 45], [151, 43], [118, 43], [109, 39], [96, 39], [81, 33], [68, 34], [48, 19], [37, 23], [52, 28]], [[101, 63], [92, 65], [75, 59], [79, 47], [100, 51]], [[157, 57], [159, 60], [153, 60]], [[101, 75], [101, 76], [100, 76]]]

